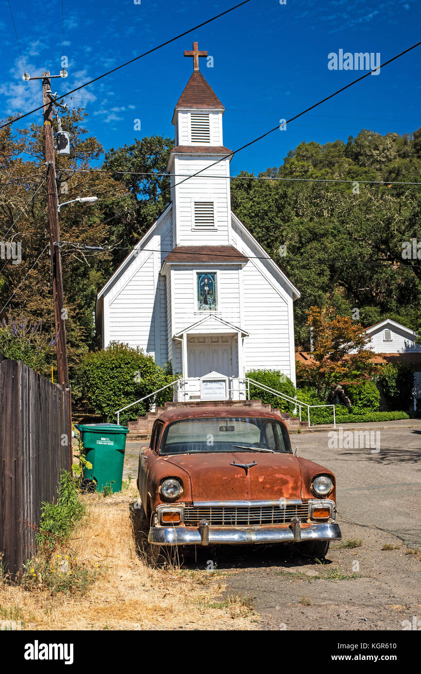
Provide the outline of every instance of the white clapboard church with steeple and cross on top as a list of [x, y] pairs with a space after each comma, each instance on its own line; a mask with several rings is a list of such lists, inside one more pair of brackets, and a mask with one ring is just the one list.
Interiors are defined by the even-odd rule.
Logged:
[[207, 52], [194, 42], [184, 55], [194, 71], [172, 119], [171, 204], [99, 293], [96, 332], [103, 347], [128, 342], [161, 366], [171, 360], [186, 380], [177, 400], [206, 398], [208, 374], [227, 377], [225, 394], [213, 397], [241, 400], [250, 369], [281, 370], [296, 383], [300, 293], [231, 211], [225, 109], [199, 70]]

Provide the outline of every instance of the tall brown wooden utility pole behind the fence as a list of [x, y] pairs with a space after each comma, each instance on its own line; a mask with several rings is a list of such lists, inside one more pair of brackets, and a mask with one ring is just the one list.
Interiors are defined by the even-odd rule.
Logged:
[[69, 388], [67, 368], [67, 346], [65, 335], [65, 311], [63, 277], [61, 275], [59, 207], [55, 182], [55, 154], [53, 133], [53, 96], [51, 94], [50, 71], [43, 73], [43, 115], [45, 134], [45, 162], [47, 164], [48, 216], [50, 228], [51, 276], [53, 280], [53, 303], [55, 333], [57, 335], [57, 379], [60, 385]]

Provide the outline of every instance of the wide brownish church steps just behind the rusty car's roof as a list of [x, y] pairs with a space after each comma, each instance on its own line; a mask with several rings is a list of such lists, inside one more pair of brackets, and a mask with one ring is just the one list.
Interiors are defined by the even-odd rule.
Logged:
[[306, 428], [307, 423], [301, 421], [298, 417], [291, 417], [288, 412], [281, 412], [281, 410], [275, 408], [272, 409], [271, 405], [267, 402], [262, 402], [261, 400], [193, 400], [189, 402], [166, 402], [164, 406], [157, 407], [155, 412], [146, 412], [144, 417], [138, 417], [136, 421], [128, 422], [128, 440], [143, 440], [147, 439], [152, 432], [152, 426], [154, 425], [155, 419], [159, 417], [166, 410], [173, 409], [183, 409], [183, 408], [194, 408], [194, 407], [232, 407], [235, 410], [236, 407], [251, 407], [259, 410], [268, 410], [275, 412], [279, 415], [283, 421], [285, 421], [289, 431], [297, 431], [297, 429]]

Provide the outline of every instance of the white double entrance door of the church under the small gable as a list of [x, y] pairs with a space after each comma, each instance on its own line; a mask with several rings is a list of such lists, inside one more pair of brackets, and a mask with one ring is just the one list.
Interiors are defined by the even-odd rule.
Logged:
[[188, 377], [203, 377], [214, 371], [226, 377], [238, 376], [231, 336], [188, 337], [187, 353]]

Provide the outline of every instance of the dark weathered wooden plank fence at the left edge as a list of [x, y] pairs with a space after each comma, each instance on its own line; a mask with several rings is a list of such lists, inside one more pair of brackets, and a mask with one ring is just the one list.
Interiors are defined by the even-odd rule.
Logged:
[[24, 363], [0, 363], [0, 563], [12, 575], [35, 554], [41, 504], [57, 501], [69, 469], [69, 419], [64, 389]]

